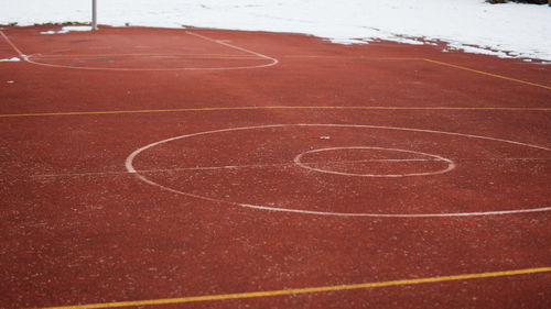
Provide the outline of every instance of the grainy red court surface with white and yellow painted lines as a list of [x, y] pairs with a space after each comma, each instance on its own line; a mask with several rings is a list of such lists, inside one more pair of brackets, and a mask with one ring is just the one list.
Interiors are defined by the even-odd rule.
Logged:
[[549, 308], [551, 67], [3, 27], [2, 308]]

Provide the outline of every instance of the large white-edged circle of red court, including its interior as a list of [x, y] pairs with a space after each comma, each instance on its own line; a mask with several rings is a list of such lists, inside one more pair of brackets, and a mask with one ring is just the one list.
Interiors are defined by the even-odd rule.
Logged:
[[[365, 134], [368, 130], [374, 134]], [[318, 137], [328, 136], [329, 133], [331, 140]], [[177, 151], [181, 147], [179, 143], [187, 144], [183, 155]], [[378, 143], [379, 147], [341, 146], [349, 143]], [[443, 156], [395, 148], [393, 145], [399, 143], [407, 144], [408, 148], [414, 146], [415, 150], [431, 150], [436, 145], [439, 153], [462, 161], [462, 168], [456, 168], [455, 176], [447, 178], [434, 177], [426, 181], [418, 181], [412, 177], [408, 179], [406, 176], [444, 174], [456, 165]], [[387, 147], [382, 147], [385, 145]], [[261, 152], [255, 153], [255, 150]], [[206, 151], [216, 155], [205, 156]], [[231, 151], [238, 151], [241, 155], [233, 155]], [[324, 162], [312, 161], [313, 157], [331, 157], [343, 152], [356, 155], [379, 153], [383, 156], [377, 159], [387, 162], [402, 159], [395, 157], [401, 155], [412, 165], [426, 162], [431, 168], [367, 173], [353, 167], [352, 170], [343, 172], [338, 166], [317, 166]], [[540, 166], [549, 152], [551, 148], [545, 146], [456, 132], [367, 124], [302, 123], [227, 128], [177, 135], [136, 150], [127, 157], [125, 165], [128, 173], [149, 185], [215, 203], [314, 216], [436, 218], [551, 211], [547, 201], [541, 201], [542, 195], [531, 194], [533, 190], [547, 190], [542, 184], [548, 176], [540, 172]], [[525, 157], [518, 158], [518, 153]], [[149, 165], [134, 167], [138, 157], [141, 157], [140, 162], [149, 162]], [[171, 162], [180, 163], [182, 159], [187, 166], [171, 165]], [[509, 166], [509, 170], [496, 168], [496, 161]], [[519, 161], [525, 168], [519, 168]], [[166, 165], [159, 166], [163, 162], [168, 162]], [[345, 161], [334, 162], [342, 164]], [[439, 164], [444, 167], [434, 168]], [[335, 179], [300, 170], [312, 168], [325, 174], [347, 173], [356, 174], [347, 176], [374, 178], [368, 181], [363, 177]], [[184, 174], [180, 175], [181, 172]], [[262, 173], [271, 174], [266, 176]], [[388, 181], [383, 177], [395, 178], [388, 178], [392, 180]], [[527, 183], [527, 179], [538, 181]], [[177, 185], [181, 183], [185, 187]], [[505, 186], [508, 189], [506, 195], [503, 190]], [[280, 187], [283, 194], [273, 190]], [[266, 192], [270, 194], [263, 195]], [[523, 197], [520, 205], [516, 205], [520, 201], [515, 198], [518, 196]], [[345, 209], [334, 209], [334, 206], [341, 205]], [[348, 210], [350, 206], [368, 206], [372, 211]], [[387, 211], [382, 207], [391, 210]], [[436, 207], [445, 210], [431, 210]]]

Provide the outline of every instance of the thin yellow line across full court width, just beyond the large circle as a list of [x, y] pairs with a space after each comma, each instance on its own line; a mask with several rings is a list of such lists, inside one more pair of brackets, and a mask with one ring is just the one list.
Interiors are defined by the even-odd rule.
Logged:
[[551, 111], [551, 108], [507, 108], [507, 107], [229, 107], [229, 108], [190, 108], [190, 109], [159, 109], [159, 110], [115, 110], [115, 111], [68, 111], [68, 112], [39, 112], [39, 113], [4, 113], [0, 118], [47, 117], [47, 115], [93, 115], [93, 114], [123, 114], [123, 113], [163, 113], [163, 112], [193, 112], [193, 111], [231, 111], [231, 110], [452, 110], [452, 111]]

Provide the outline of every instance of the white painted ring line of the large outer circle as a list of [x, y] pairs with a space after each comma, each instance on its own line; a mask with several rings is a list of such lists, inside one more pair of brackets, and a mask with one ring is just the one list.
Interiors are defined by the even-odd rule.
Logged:
[[269, 125], [258, 125], [258, 126], [242, 126], [242, 128], [229, 128], [229, 129], [222, 129], [222, 130], [212, 130], [212, 131], [197, 132], [197, 133], [191, 133], [191, 134], [185, 134], [185, 135], [165, 139], [165, 140], [159, 141], [159, 142], [148, 144], [148, 145], [142, 146], [142, 147], [136, 150], [134, 152], [132, 152], [127, 157], [127, 159], [125, 162], [125, 166], [126, 166], [127, 170], [131, 174], [134, 174], [138, 179], [140, 179], [140, 180], [142, 180], [151, 186], [161, 188], [163, 190], [166, 190], [166, 191], [170, 191], [170, 192], [173, 192], [176, 195], [193, 197], [193, 198], [207, 200], [207, 201], [212, 201], [212, 202], [216, 202], [216, 203], [239, 206], [239, 207], [244, 207], [244, 208], [267, 210], [267, 211], [277, 211], [277, 212], [291, 212], [291, 213], [315, 214], [315, 216], [335, 216], [335, 217], [369, 217], [369, 218], [451, 218], [451, 217], [473, 217], [473, 216], [503, 216], [503, 214], [541, 212], [541, 211], [551, 210], [551, 207], [536, 207], [536, 208], [530, 208], [530, 209], [515, 209], [515, 210], [501, 210], [501, 211], [455, 212], [455, 213], [417, 213], [415, 214], [415, 213], [346, 213], [346, 212], [324, 212], [324, 211], [311, 211], [311, 210], [303, 210], [303, 209], [277, 208], [277, 207], [267, 207], [267, 206], [258, 206], [258, 205], [220, 200], [220, 199], [208, 198], [208, 197], [204, 197], [204, 196], [199, 196], [199, 195], [195, 195], [195, 194], [180, 191], [180, 190], [160, 185], [153, 180], [150, 180], [145, 176], [141, 175], [140, 172], [138, 172], [133, 167], [133, 161], [140, 153], [142, 153], [149, 148], [152, 148], [154, 146], [158, 146], [160, 144], [164, 144], [164, 143], [169, 143], [169, 142], [173, 142], [173, 141], [177, 141], [177, 140], [182, 140], [182, 139], [187, 139], [187, 137], [192, 137], [192, 136], [201, 136], [201, 135], [207, 135], [207, 134], [214, 134], [214, 133], [237, 132], [237, 131], [257, 130], [257, 129], [285, 128], [285, 126], [359, 128], [359, 129], [381, 129], [381, 130], [392, 130], [392, 131], [424, 132], [424, 133], [444, 134], [444, 135], [452, 135], [452, 136], [462, 136], [462, 137], [467, 137], [467, 139], [495, 141], [495, 142], [508, 143], [508, 144], [520, 145], [520, 146], [538, 148], [538, 150], [543, 150], [543, 151], [551, 151], [551, 148], [548, 148], [544, 146], [527, 144], [527, 143], [521, 143], [521, 142], [516, 142], [516, 141], [488, 137], [488, 136], [480, 136], [480, 135], [473, 135], [473, 134], [455, 133], [455, 132], [436, 131], [436, 130], [382, 126], [382, 125], [364, 125], [364, 124], [305, 124], [305, 123], [269, 124]]

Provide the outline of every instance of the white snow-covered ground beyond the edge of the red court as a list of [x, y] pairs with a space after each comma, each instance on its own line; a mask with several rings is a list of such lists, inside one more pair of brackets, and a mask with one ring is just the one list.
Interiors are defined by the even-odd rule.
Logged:
[[[551, 7], [484, 0], [97, 0], [100, 24], [305, 33], [336, 43], [442, 41], [551, 60]], [[0, 24], [89, 22], [91, 0], [2, 0]]]

